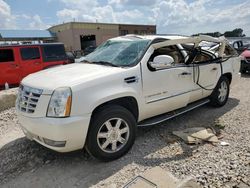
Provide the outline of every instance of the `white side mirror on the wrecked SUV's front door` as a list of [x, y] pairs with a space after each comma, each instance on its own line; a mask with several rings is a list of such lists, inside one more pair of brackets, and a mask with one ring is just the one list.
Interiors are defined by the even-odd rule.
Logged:
[[150, 62], [150, 66], [154, 69], [165, 69], [171, 67], [174, 63], [174, 59], [169, 55], [158, 55], [154, 58], [153, 62]]

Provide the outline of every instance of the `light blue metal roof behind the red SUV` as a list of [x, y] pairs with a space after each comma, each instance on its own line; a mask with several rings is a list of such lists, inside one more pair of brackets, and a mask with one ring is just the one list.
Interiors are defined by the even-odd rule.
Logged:
[[0, 38], [2, 39], [41, 39], [54, 37], [47, 30], [0, 30]]

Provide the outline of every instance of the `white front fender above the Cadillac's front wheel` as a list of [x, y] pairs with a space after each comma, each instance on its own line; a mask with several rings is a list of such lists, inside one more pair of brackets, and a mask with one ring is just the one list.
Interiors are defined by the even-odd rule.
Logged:
[[[141, 106], [141, 82], [127, 84], [124, 80], [110, 81], [105, 84], [73, 91], [71, 115], [91, 114], [99, 105], [122, 97], [134, 97]], [[140, 110], [140, 109], [138, 109]]]

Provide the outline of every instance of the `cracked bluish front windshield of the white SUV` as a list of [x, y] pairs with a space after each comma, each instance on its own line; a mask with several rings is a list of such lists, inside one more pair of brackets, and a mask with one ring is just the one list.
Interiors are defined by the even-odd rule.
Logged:
[[150, 40], [108, 40], [94, 52], [85, 56], [83, 62], [103, 65], [129, 66], [136, 63], [149, 44]]

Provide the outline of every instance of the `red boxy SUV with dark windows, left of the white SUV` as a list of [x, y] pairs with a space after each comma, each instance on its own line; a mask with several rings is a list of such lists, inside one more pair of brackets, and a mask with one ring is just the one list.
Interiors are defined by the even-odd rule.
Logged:
[[6, 83], [18, 86], [31, 73], [68, 63], [61, 43], [0, 46], [0, 90]]

